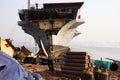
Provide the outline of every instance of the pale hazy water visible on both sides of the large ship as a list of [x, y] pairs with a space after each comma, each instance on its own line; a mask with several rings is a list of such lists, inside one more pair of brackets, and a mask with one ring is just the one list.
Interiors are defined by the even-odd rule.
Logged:
[[[16, 46], [24, 45], [31, 52], [37, 53], [39, 50], [38, 47], [30, 44], [31, 43], [17, 43]], [[106, 60], [105, 58], [120, 60], [120, 42], [76, 42], [72, 43], [70, 48], [71, 51], [85, 51], [95, 60], [100, 60], [100, 58], [103, 58], [103, 60]]]

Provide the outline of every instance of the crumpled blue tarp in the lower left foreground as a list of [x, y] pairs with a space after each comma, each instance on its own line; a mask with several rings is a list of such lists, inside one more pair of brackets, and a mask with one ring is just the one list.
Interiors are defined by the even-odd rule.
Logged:
[[[0, 71], [0, 80], [34, 80], [36, 73], [26, 71], [14, 58], [0, 51], [0, 67], [5, 66]], [[37, 74], [38, 75], [38, 74]], [[35, 80], [43, 80], [40, 79]]]

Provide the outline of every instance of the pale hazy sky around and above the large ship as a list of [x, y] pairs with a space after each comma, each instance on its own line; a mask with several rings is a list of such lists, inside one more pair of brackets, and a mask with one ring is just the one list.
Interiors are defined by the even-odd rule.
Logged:
[[[80, 0], [31, 0], [38, 2], [79, 2]], [[81, 0], [81, 17], [85, 23], [77, 30], [82, 34], [73, 42], [120, 42], [120, 0]], [[15, 42], [30, 42], [33, 38], [24, 33], [17, 22], [18, 10], [27, 8], [27, 0], [0, 0], [0, 37]]]

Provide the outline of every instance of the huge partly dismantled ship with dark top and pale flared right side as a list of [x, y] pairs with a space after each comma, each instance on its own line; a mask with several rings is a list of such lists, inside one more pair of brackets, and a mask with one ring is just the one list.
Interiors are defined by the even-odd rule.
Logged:
[[39, 53], [54, 58], [69, 50], [70, 41], [79, 33], [76, 28], [84, 23], [80, 8], [84, 2], [45, 3], [42, 8], [35, 7], [19, 10], [21, 21], [18, 25], [25, 33], [31, 35], [39, 46]]

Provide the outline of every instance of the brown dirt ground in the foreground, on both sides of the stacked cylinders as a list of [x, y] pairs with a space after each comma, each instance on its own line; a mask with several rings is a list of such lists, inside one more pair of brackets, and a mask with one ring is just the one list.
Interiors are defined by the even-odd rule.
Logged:
[[[63, 77], [59, 67], [55, 67], [55, 72], [50, 72], [47, 65], [23, 64], [22, 66], [30, 72], [39, 73], [45, 80], [71, 80]], [[120, 71], [109, 71], [111, 80], [120, 80]]]

